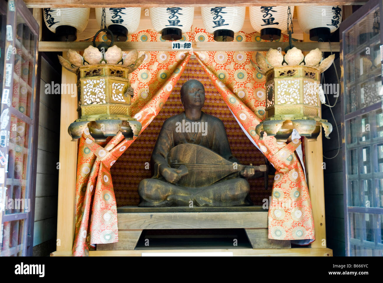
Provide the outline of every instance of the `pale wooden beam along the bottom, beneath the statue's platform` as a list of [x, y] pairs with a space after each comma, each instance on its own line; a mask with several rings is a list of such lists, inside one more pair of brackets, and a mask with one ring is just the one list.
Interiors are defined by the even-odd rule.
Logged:
[[[206, 253], [206, 252], [232, 252], [234, 257], [255, 256], [255, 257], [332, 257], [332, 250], [329, 248], [210, 248], [206, 249], [182, 249], [182, 250], [91, 250], [90, 257], [141, 257], [142, 253]], [[52, 252], [51, 257], [69, 257], [69, 253]]]

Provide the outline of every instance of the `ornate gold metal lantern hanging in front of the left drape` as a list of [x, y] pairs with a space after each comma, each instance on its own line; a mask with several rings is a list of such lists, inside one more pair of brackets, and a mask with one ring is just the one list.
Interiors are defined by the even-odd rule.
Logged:
[[77, 93], [79, 118], [68, 128], [75, 141], [81, 137], [86, 127], [95, 142], [105, 142], [107, 137], [121, 132], [126, 140], [133, 140], [141, 131], [141, 123], [131, 117], [131, 97], [129, 73], [144, 60], [138, 58], [136, 50], [124, 58], [117, 46], [105, 53], [88, 46], [83, 56], [76, 51], [67, 53], [68, 60], [59, 56], [65, 69], [77, 74]]

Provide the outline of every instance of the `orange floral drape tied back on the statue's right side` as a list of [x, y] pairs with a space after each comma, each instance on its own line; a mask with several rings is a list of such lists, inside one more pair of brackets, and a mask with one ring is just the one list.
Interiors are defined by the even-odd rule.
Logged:
[[250, 65], [251, 52], [195, 52], [198, 61], [219, 90], [226, 104], [275, 167], [272, 202], [268, 210], [268, 238], [315, 239], [313, 212], [303, 169], [294, 151], [295, 139], [277, 143], [274, 137], [260, 141], [255, 127], [265, 114], [262, 74]]

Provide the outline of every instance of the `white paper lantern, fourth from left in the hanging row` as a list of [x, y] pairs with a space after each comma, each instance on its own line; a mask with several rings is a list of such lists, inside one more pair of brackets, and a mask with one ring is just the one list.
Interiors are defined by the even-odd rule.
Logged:
[[203, 25], [215, 41], [232, 41], [241, 30], [246, 7], [201, 7]]

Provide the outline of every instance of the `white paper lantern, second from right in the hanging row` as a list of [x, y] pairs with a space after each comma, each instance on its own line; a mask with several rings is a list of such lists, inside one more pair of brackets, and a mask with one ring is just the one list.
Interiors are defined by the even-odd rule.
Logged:
[[[290, 6], [291, 17], [294, 6]], [[288, 6], [254, 6], [249, 7], [250, 23], [264, 40], [277, 40], [287, 30]]]

